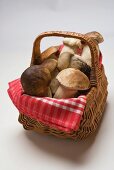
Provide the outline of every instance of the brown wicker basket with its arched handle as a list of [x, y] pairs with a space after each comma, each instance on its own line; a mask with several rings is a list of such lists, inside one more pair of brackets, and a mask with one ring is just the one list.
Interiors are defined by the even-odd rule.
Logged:
[[40, 41], [44, 37], [58, 36], [58, 37], [73, 37], [81, 39], [85, 42], [91, 50], [92, 55], [92, 69], [90, 74], [91, 88], [87, 93], [87, 104], [83, 113], [80, 127], [77, 131], [66, 133], [64, 131], [50, 128], [44, 123], [31, 119], [24, 114], [19, 114], [19, 122], [23, 124], [26, 130], [34, 130], [40, 133], [52, 134], [58, 137], [84, 139], [92, 134], [98, 127], [101, 117], [103, 115], [104, 107], [107, 98], [107, 78], [105, 76], [104, 67], [99, 66], [99, 56], [95, 41], [87, 35], [82, 35], [75, 32], [52, 31], [40, 34], [33, 46], [31, 65], [37, 64], [41, 56]]

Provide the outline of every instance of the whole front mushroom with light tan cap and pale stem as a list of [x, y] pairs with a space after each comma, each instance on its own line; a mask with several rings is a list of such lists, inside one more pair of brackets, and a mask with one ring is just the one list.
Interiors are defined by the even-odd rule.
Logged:
[[88, 77], [74, 68], [62, 70], [56, 78], [60, 85], [54, 98], [72, 98], [78, 90], [87, 90], [90, 86]]

